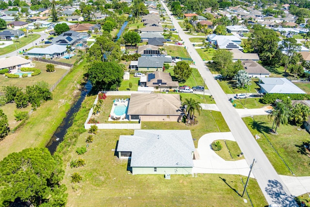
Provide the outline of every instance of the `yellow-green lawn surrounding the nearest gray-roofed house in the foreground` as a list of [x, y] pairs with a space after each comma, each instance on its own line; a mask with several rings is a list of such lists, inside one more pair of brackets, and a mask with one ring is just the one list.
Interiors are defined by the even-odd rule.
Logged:
[[[92, 106], [94, 96], [87, 97], [81, 111], [78, 112], [74, 125], [69, 129], [69, 134], [79, 131], [83, 127], [83, 120], [87, 117], [87, 109]], [[208, 111], [208, 113], [210, 113]], [[216, 116], [216, 115], [215, 115]], [[202, 115], [201, 117], [205, 117]], [[208, 118], [206, 118], [208, 119]], [[218, 120], [220, 122], [220, 120]], [[184, 128], [175, 123], [142, 122], [143, 128]], [[180, 123], [181, 124], [181, 123]], [[204, 130], [217, 131], [213, 123], [208, 123], [211, 128]], [[185, 126], [183, 124], [183, 126]], [[197, 135], [197, 128], [191, 129]], [[127, 160], [115, 156], [115, 148], [120, 135], [133, 134], [133, 130], [99, 130], [94, 136], [94, 142], [89, 144], [88, 151], [78, 156], [75, 152], [79, 146], [85, 146], [87, 132], [80, 133], [77, 141], [67, 140], [67, 148], [59, 149], [64, 154], [65, 175], [63, 183], [67, 186], [68, 207], [74, 206], [210, 206], [250, 207], [244, 203], [236, 191], [242, 191], [243, 181], [246, 177], [240, 175], [199, 174], [171, 175], [171, 180], [165, 180], [163, 175], [131, 175], [127, 171]], [[99, 156], [98, 156], [99, 155]], [[70, 168], [68, 163], [72, 159], [85, 159], [86, 165], [80, 168]], [[72, 184], [71, 175], [75, 172], [82, 175], [83, 180]], [[145, 193], [147, 192], [147, 193]], [[267, 205], [263, 194], [254, 179], [250, 179], [248, 193], [256, 207]]]

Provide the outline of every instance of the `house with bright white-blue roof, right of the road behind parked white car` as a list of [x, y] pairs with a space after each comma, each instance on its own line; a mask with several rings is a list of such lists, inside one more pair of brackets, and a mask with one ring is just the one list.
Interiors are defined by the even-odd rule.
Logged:
[[260, 78], [261, 93], [268, 94], [306, 94], [286, 78]]

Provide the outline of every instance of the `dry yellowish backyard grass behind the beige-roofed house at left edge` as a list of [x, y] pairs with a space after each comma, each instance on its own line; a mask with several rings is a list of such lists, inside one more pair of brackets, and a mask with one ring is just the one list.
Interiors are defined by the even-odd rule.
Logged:
[[[5, 78], [4, 75], [0, 76], [0, 86], [9, 86], [9, 85], [15, 85], [17, 87], [26, 88], [27, 85], [34, 85], [36, 82], [39, 81], [46, 81], [48, 83], [48, 86], [52, 86], [57, 80], [59, 80], [62, 75], [67, 71], [67, 69], [60, 68], [59, 65], [55, 65], [55, 72], [48, 73], [46, 71], [46, 63], [42, 62], [33, 62], [35, 63], [35, 68], [38, 68], [41, 70], [41, 74], [37, 76], [31, 76], [26, 78], [19, 78], [19, 79], [9, 79]], [[2, 87], [0, 87], [0, 91], [2, 90]]]

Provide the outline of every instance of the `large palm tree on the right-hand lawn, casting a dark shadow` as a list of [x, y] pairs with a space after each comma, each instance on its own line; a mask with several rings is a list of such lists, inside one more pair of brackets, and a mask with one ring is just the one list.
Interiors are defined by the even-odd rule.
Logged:
[[286, 125], [288, 123], [290, 116], [290, 111], [287, 108], [287, 106], [282, 103], [278, 102], [276, 108], [268, 115], [268, 117], [271, 119], [272, 117], [275, 117], [273, 120], [271, 131], [273, 131], [273, 128], [276, 124], [275, 133], [277, 133], [277, 128], [280, 126], [280, 124]]

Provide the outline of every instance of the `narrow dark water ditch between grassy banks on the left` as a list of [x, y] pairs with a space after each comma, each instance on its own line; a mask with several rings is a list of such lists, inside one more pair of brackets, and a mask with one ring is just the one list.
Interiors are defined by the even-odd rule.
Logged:
[[81, 108], [82, 102], [87, 96], [87, 94], [92, 90], [92, 84], [88, 81], [85, 86], [84, 90], [81, 92], [80, 97], [78, 100], [72, 105], [71, 109], [67, 112], [66, 116], [62, 120], [60, 126], [56, 129], [55, 133], [53, 134], [52, 138], [47, 143], [46, 147], [51, 154], [57, 149], [57, 146], [62, 143], [64, 135], [67, 133], [69, 127], [72, 126], [73, 119], [75, 114]]

